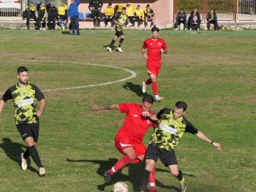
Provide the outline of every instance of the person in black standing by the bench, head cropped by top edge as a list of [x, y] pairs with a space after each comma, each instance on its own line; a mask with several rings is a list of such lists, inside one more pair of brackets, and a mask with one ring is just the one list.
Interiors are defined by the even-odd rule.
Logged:
[[102, 9], [102, 0], [90, 0], [89, 9], [91, 17], [94, 18], [94, 27], [100, 26], [100, 10]]

